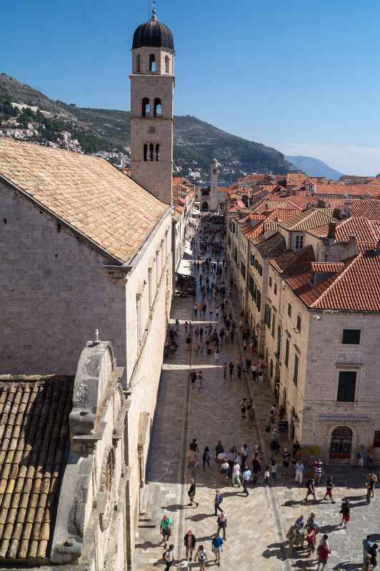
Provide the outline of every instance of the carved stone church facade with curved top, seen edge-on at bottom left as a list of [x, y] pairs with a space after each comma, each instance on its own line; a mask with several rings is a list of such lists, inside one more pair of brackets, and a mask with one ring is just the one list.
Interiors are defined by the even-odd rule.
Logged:
[[126, 398], [110, 343], [87, 343], [69, 415], [70, 451], [51, 560], [91, 571], [126, 569]]

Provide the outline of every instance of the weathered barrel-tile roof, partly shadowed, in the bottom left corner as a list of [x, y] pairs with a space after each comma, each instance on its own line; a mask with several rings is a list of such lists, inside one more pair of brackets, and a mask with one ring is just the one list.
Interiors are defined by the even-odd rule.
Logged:
[[0, 560], [46, 558], [73, 385], [73, 377], [0, 377]]

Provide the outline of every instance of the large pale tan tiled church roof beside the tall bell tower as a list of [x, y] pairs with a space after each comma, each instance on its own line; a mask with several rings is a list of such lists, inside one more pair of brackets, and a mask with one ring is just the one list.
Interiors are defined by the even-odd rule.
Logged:
[[169, 211], [103, 158], [11, 138], [0, 138], [1, 178], [122, 263]]

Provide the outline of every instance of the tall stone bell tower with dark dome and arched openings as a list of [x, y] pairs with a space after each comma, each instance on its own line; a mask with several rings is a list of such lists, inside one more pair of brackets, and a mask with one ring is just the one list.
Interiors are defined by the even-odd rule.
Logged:
[[171, 205], [174, 43], [151, 19], [134, 32], [131, 79], [131, 178]]

